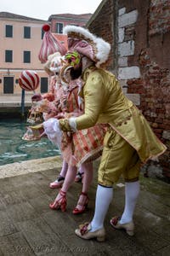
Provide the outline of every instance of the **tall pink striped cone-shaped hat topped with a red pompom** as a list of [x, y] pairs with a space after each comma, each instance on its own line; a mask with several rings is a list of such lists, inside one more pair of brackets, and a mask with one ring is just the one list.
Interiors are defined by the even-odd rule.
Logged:
[[45, 24], [42, 26], [42, 30], [44, 31], [44, 35], [42, 38], [42, 46], [38, 54], [38, 59], [42, 63], [45, 63], [48, 61], [48, 55], [52, 55], [55, 52], [59, 52], [60, 55], [65, 55], [67, 49], [50, 32], [50, 26]]

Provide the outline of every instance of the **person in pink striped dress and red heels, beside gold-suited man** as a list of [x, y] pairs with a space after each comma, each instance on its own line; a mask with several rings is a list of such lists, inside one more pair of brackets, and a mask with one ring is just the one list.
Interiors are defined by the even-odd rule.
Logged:
[[[83, 113], [82, 98], [78, 96], [79, 90], [82, 87], [82, 81], [75, 79], [68, 82], [69, 87], [66, 97], [60, 96], [60, 108], [63, 112], [55, 116], [55, 118], [69, 118], [71, 116], [79, 116]], [[62, 87], [61, 87], [62, 88]], [[44, 122], [45, 132], [48, 134], [49, 140], [56, 143], [54, 131], [50, 131], [51, 122]], [[52, 134], [52, 136], [51, 136]], [[74, 214], [80, 214], [85, 211], [88, 206], [88, 189], [93, 180], [93, 160], [98, 158], [103, 148], [103, 138], [105, 135], [105, 125], [95, 125], [94, 127], [77, 131], [73, 134], [63, 132], [61, 137], [60, 148], [63, 159], [68, 163], [68, 171], [66, 172], [65, 181], [56, 196], [54, 202], [49, 207], [52, 209], [61, 209], [65, 212], [66, 209], [66, 192], [74, 182], [77, 175], [77, 167], [81, 166], [84, 173], [82, 183], [82, 193], [77, 202], [77, 206], [73, 209]], [[88, 142], [88, 137], [91, 137], [91, 142]]]

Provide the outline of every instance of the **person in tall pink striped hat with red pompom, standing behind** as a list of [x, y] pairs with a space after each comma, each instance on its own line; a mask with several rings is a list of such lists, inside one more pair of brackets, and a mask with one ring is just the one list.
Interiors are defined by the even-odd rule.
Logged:
[[[44, 104], [42, 104], [43, 119], [47, 120], [51, 117], [54, 117], [58, 111], [61, 111], [61, 109], [56, 109], [58, 108], [60, 101], [59, 86], [57, 85], [57, 76], [59, 74], [58, 61], [60, 61], [60, 56], [65, 55], [66, 48], [50, 32], [50, 26], [48, 24], [43, 25], [42, 30], [44, 31], [44, 35], [42, 38], [42, 45], [38, 54], [38, 59], [42, 63], [45, 63], [44, 69], [48, 73], [50, 79], [49, 91], [42, 96], [43, 99], [46, 99], [46, 101], [43, 102]], [[68, 164], [64, 160], [61, 172], [59, 173], [59, 177], [57, 177], [54, 182], [49, 184], [51, 189], [58, 189], [62, 186], [62, 183], [65, 180], [67, 169]], [[75, 181], [81, 181], [82, 175], [83, 172], [80, 168]]]

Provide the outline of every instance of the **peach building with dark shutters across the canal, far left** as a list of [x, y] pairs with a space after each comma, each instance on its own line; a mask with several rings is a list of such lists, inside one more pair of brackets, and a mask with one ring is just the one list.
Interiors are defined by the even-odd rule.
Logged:
[[39, 90], [46, 90], [47, 75], [43, 72], [38, 52], [42, 44], [42, 25], [21, 15], [0, 13], [0, 95], [20, 94], [18, 83], [23, 70], [34, 70], [40, 77]]

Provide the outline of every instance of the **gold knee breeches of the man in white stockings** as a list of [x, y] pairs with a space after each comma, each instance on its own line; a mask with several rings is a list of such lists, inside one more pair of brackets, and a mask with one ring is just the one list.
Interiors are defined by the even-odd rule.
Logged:
[[126, 182], [137, 181], [140, 165], [137, 151], [110, 128], [104, 139], [104, 150], [98, 173], [99, 184], [110, 187], [121, 175]]

